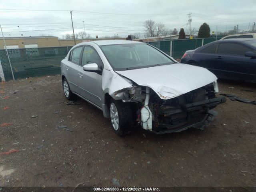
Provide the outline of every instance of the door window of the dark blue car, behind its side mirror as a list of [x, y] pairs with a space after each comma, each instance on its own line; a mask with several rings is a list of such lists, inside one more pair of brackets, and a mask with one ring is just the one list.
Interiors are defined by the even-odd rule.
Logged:
[[252, 49], [237, 43], [220, 43], [217, 53], [244, 56], [247, 51], [252, 51]]

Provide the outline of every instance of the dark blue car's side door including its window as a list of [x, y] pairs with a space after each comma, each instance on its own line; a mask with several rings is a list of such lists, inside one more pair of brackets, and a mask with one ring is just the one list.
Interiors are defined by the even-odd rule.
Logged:
[[217, 76], [234, 80], [255, 79], [255, 60], [244, 56], [247, 51], [254, 50], [237, 42], [219, 43], [214, 57], [220, 66], [216, 70]]

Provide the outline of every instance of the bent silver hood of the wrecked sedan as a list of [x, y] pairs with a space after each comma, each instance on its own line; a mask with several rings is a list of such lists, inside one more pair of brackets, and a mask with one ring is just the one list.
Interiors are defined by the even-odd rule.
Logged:
[[181, 63], [116, 73], [140, 86], [150, 87], [161, 99], [180, 96], [217, 80], [206, 68]]

